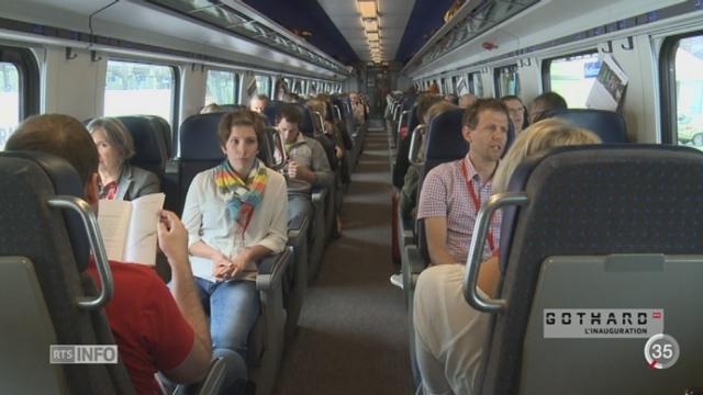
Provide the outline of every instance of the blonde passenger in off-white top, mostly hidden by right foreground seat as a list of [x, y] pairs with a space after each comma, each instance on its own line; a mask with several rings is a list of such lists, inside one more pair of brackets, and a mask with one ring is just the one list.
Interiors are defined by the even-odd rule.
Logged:
[[[515, 139], [495, 172], [493, 190], [505, 191], [513, 171], [527, 156], [550, 147], [599, 142], [593, 133], [562, 121], [538, 122]], [[491, 316], [473, 309], [464, 298], [464, 263], [432, 267], [417, 279], [413, 319], [424, 394], [470, 395], [478, 391]], [[495, 295], [500, 276], [498, 257], [484, 261], [480, 291]]]

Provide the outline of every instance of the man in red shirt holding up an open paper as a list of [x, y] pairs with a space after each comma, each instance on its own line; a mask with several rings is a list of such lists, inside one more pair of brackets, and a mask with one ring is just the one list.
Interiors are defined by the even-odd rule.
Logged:
[[[85, 185], [83, 199], [98, 212], [99, 156], [80, 122], [59, 114], [31, 116], [10, 137], [5, 149], [44, 151], [66, 159]], [[171, 268], [170, 292], [150, 267], [110, 262], [114, 296], [105, 314], [137, 394], [158, 394], [157, 371], [177, 383], [200, 381], [212, 357], [208, 323], [188, 264], [188, 234], [168, 211], [161, 211], [157, 234]], [[88, 273], [99, 284], [92, 259]]]

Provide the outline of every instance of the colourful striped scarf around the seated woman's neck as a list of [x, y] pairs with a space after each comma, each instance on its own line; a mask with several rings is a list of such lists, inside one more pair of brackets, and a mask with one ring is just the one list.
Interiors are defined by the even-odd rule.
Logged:
[[243, 233], [248, 226], [254, 208], [264, 199], [267, 181], [266, 167], [261, 166], [258, 159], [254, 162], [246, 183], [226, 159], [215, 169], [215, 184], [226, 196], [230, 218], [239, 225]]

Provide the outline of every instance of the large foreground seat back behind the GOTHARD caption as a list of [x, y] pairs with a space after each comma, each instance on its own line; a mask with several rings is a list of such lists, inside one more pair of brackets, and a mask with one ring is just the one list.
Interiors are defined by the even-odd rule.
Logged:
[[[702, 199], [703, 155], [692, 148], [560, 147], [527, 158], [509, 192], [481, 207], [467, 262], [467, 308], [493, 319], [480, 393], [683, 394], [700, 387]], [[476, 291], [478, 264], [490, 214], [501, 206], [503, 280], [496, 298], [487, 300]], [[659, 317], [646, 314], [646, 323], [663, 319], [680, 358], [670, 369], [650, 369], [647, 331], [598, 339], [574, 327], [577, 338], [545, 336], [554, 325], [548, 308], [660, 311]], [[596, 326], [588, 316], [585, 323]]]

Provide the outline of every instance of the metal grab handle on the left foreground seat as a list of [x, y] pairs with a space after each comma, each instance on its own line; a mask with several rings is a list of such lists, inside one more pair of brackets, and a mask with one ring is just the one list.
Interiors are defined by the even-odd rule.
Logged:
[[114, 282], [112, 281], [112, 271], [110, 270], [105, 246], [102, 244], [102, 235], [100, 234], [100, 226], [98, 226], [98, 218], [96, 218], [96, 214], [86, 201], [76, 196], [54, 196], [48, 200], [48, 205], [57, 208], [69, 208], [80, 215], [80, 219], [82, 219], [86, 233], [88, 234], [90, 249], [92, 249], [96, 257], [98, 275], [100, 278], [100, 283], [102, 284], [100, 294], [93, 300], [83, 296], [78, 297], [78, 307], [85, 309], [97, 309], [104, 306], [110, 302], [114, 294]]

